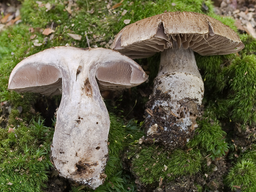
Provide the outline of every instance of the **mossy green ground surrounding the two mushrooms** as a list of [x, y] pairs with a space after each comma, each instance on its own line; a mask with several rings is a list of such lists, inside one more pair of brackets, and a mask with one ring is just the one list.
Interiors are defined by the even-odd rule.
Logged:
[[[20, 2], [22, 22], [0, 33], [2, 192], [50, 191], [46, 181], [51, 179], [49, 153], [54, 130], [43, 126], [39, 115], [41, 113], [45, 117], [50, 113], [47, 105], [58, 105], [61, 98], [7, 90], [9, 74], [22, 59], [46, 48], [66, 44], [109, 48], [114, 36], [126, 25], [125, 19], [133, 23], [165, 10], [208, 14], [236, 30], [233, 19], [214, 14], [209, 0], [124, 0], [121, 4], [110, 0]], [[51, 5], [49, 10], [46, 3]], [[127, 13], [122, 15], [124, 10]], [[45, 36], [42, 34], [45, 28], [52, 28], [55, 32]], [[81, 40], [74, 40], [67, 33], [81, 35]], [[143, 122], [132, 120], [124, 126], [126, 119], [143, 121], [144, 106], [152, 89], [159, 55], [137, 60], [149, 72], [149, 83], [123, 92], [122, 99], [119, 96], [118, 99], [106, 100], [111, 111], [108, 177], [104, 185], [95, 191], [136, 191], [137, 184], [137, 190], [153, 191], [158, 187], [167, 192], [168, 187], [171, 189], [172, 186], [189, 183], [199, 192], [255, 191], [256, 40], [246, 34], [240, 34], [240, 38], [245, 48], [238, 55], [195, 54], [205, 85], [205, 112], [198, 119], [196, 136], [185, 150], [169, 152], [156, 144], [139, 144]], [[42, 45], [35, 46], [35, 40]], [[38, 102], [45, 105], [36, 107]], [[54, 110], [50, 114], [52, 118], [48, 117], [48, 120], [54, 119]], [[14, 132], [8, 133], [11, 128]], [[67, 186], [63, 189], [65, 191], [92, 191], [84, 186], [72, 186], [67, 180], [64, 182]], [[164, 188], [165, 185], [168, 187]]]

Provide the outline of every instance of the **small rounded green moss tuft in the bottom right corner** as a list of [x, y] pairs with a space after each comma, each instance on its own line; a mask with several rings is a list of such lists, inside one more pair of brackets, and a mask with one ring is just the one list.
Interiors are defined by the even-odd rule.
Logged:
[[[233, 191], [253, 192], [256, 191], [256, 164], [242, 160], [231, 168], [226, 178], [227, 185]], [[237, 190], [237, 187], [239, 190]]]

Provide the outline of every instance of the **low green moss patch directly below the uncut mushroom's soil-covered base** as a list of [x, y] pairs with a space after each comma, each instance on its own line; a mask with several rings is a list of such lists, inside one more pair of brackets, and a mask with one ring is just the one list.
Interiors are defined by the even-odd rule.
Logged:
[[197, 149], [189, 152], [176, 149], [169, 152], [156, 145], [141, 147], [137, 149], [138, 152], [130, 151], [128, 158], [132, 158], [133, 173], [145, 185], [161, 178], [173, 180], [180, 175], [191, 175], [200, 170], [201, 154]]

